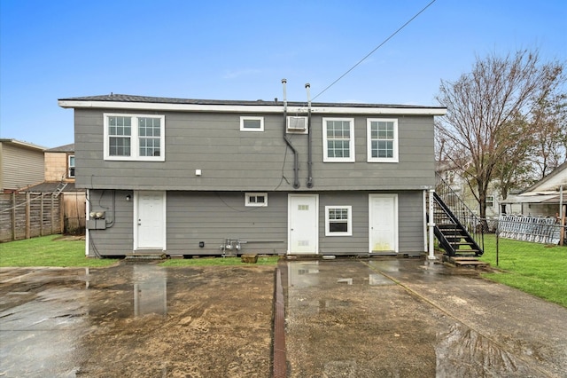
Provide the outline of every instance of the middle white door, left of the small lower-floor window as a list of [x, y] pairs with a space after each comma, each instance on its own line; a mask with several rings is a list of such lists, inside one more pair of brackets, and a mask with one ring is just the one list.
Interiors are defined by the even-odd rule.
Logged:
[[316, 254], [319, 241], [317, 194], [288, 196], [288, 253]]

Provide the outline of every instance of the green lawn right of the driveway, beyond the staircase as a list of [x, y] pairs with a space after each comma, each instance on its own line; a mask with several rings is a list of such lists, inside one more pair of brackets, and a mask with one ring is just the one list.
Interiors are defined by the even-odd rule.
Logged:
[[567, 307], [567, 247], [500, 239], [497, 266], [496, 238], [485, 235], [485, 254], [480, 259], [501, 270], [484, 273], [486, 279]]

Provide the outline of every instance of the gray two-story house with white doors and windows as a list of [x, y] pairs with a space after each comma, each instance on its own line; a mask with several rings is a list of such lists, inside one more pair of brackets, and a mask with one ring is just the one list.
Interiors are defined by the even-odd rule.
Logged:
[[87, 255], [418, 254], [444, 107], [62, 98]]

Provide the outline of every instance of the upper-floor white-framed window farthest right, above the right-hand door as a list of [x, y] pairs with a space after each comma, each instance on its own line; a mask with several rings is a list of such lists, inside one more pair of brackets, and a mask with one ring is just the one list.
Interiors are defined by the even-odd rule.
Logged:
[[369, 162], [398, 162], [398, 120], [367, 120]]

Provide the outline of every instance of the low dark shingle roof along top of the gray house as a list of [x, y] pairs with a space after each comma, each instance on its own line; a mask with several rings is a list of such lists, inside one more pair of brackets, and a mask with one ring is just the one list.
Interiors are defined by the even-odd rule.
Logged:
[[[193, 98], [165, 98], [150, 96], [135, 96], [128, 94], [111, 93], [100, 96], [86, 96], [75, 98], [59, 98], [59, 101], [109, 101], [109, 102], [137, 102], [137, 103], [161, 103], [161, 104], [190, 104], [190, 105], [245, 105], [245, 106], [282, 106], [282, 100], [265, 101], [262, 99], [253, 100], [226, 100], [226, 99], [193, 99]], [[307, 101], [297, 102], [288, 101], [289, 106], [307, 106]], [[415, 106], [415, 105], [392, 105], [392, 104], [358, 104], [358, 103], [323, 103], [314, 102], [312, 106], [326, 107], [385, 107], [385, 108], [402, 108], [402, 109], [445, 109], [444, 106]]]

